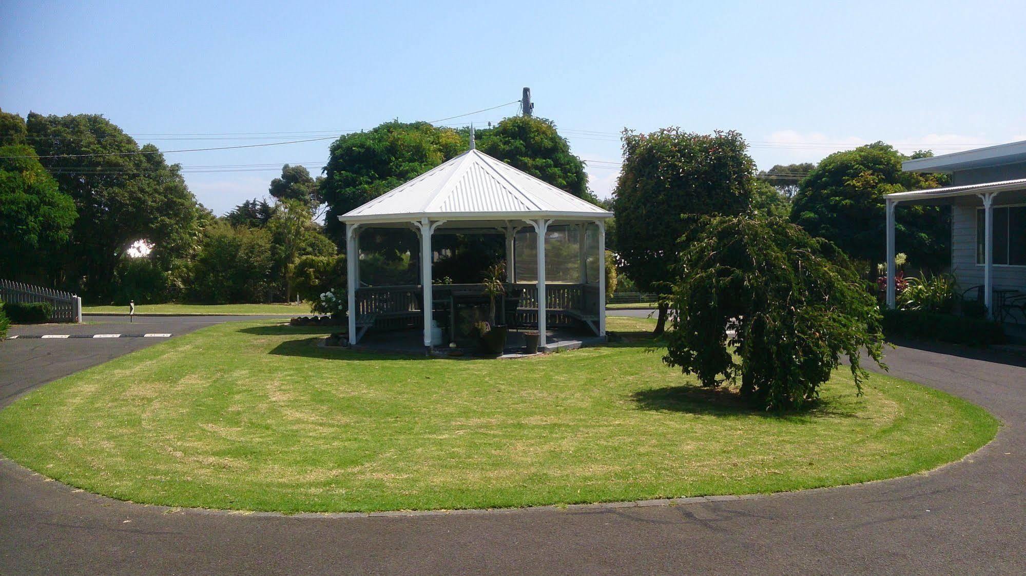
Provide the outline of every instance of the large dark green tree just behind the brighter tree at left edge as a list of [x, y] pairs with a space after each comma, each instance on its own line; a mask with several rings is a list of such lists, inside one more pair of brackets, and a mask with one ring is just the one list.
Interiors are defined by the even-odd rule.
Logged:
[[40, 162], [75, 201], [79, 217], [66, 253], [63, 284], [86, 298], [113, 293], [114, 272], [137, 240], [167, 270], [194, 248], [203, 209], [179, 165], [152, 145], [142, 148], [100, 115], [29, 114], [29, 141]]

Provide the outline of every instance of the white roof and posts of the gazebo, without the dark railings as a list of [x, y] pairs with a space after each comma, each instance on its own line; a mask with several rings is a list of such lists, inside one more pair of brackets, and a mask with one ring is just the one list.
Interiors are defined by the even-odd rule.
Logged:
[[[358, 310], [359, 234], [367, 228], [409, 229], [421, 242], [421, 306], [424, 345], [431, 347], [433, 319], [432, 237], [435, 234], [502, 234], [506, 238], [507, 282], [514, 283], [515, 237], [532, 230], [538, 246], [537, 311], [541, 345], [545, 345], [550, 295], [546, 290], [545, 238], [550, 227], [576, 228], [581, 244], [582, 286], [597, 288], [594, 314], [582, 318], [599, 336], [605, 335], [605, 220], [613, 213], [561, 191], [474, 148], [420, 176], [355, 208], [339, 219], [346, 224], [349, 293], [349, 341], [360, 337], [362, 321]], [[595, 227], [598, 240], [598, 277], [588, 279], [584, 234]], [[589, 306], [590, 308], [591, 306]], [[567, 312], [567, 311], [564, 311]], [[362, 326], [366, 328], [366, 326]]]

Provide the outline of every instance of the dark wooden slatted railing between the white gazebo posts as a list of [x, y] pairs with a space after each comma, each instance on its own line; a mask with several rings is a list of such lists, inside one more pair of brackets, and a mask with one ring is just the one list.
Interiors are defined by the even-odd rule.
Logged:
[[[506, 284], [507, 294], [518, 294], [515, 322], [520, 327], [538, 326], [538, 285]], [[443, 302], [453, 292], [484, 293], [483, 284], [435, 284], [433, 299]], [[597, 333], [598, 286], [596, 284], [546, 284], [547, 325], [569, 327], [581, 323]], [[402, 330], [423, 328], [422, 288], [419, 284], [370, 286], [356, 291], [356, 318], [361, 329]], [[434, 306], [439, 313], [444, 307]]]

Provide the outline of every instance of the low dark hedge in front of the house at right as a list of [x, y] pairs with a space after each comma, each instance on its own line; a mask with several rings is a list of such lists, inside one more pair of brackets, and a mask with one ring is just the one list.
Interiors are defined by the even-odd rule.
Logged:
[[984, 318], [936, 312], [885, 310], [882, 324], [883, 333], [887, 337], [904, 336], [971, 345], [1004, 342], [1001, 325]]

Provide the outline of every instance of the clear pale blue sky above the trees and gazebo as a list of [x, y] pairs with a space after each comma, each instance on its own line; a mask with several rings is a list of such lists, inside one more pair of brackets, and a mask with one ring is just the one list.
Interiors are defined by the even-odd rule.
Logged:
[[[347, 4], [4, 2], [0, 108], [102, 113], [175, 150], [430, 121], [529, 86], [593, 161], [620, 159], [605, 134], [625, 126], [740, 130], [760, 168], [877, 139], [1026, 139], [1023, 2]], [[222, 135], [157, 139], [199, 133]], [[327, 141], [167, 155], [216, 213], [266, 195], [280, 164], [326, 158]], [[271, 167], [235, 168], [253, 164]], [[593, 164], [607, 196], [616, 170]]]

